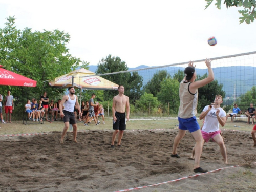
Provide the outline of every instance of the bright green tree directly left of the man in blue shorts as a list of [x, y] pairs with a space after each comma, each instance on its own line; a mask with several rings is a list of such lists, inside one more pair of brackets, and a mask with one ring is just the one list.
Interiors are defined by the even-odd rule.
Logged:
[[165, 78], [160, 83], [160, 92], [157, 98], [164, 106], [169, 103], [169, 110], [173, 113], [178, 113], [180, 99], [179, 99], [179, 86], [180, 83], [176, 79]]

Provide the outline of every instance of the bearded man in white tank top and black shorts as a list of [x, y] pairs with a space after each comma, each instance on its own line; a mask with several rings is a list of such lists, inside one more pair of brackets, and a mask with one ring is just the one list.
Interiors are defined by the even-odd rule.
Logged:
[[[74, 106], [76, 104], [79, 115], [82, 116], [81, 108], [78, 103], [77, 96], [75, 94], [75, 88], [74, 87], [69, 87], [69, 94], [63, 96], [61, 102], [59, 103], [59, 111], [60, 111], [60, 117], [63, 118], [64, 121], [64, 128], [62, 131], [60, 143], [64, 144], [63, 139], [65, 134], [67, 133], [70, 124], [73, 126], [73, 138], [74, 142], [78, 143], [76, 140], [76, 134], [77, 134], [77, 125], [76, 125], [76, 119], [74, 115]], [[65, 104], [65, 109], [62, 111], [62, 106]]]

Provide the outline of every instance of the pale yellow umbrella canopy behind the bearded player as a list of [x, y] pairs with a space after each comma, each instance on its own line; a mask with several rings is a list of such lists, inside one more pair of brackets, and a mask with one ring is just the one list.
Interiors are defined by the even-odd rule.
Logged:
[[84, 68], [56, 77], [54, 81], [49, 81], [49, 85], [56, 88], [68, 88], [73, 85], [87, 90], [117, 90], [118, 88], [118, 84], [95, 75], [95, 73]]

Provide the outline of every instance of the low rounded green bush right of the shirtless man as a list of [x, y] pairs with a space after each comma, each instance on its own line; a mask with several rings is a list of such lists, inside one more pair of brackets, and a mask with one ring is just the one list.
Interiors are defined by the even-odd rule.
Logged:
[[136, 102], [136, 109], [139, 109], [140, 112], [148, 112], [149, 108], [155, 109], [161, 104], [160, 101], [157, 100], [157, 97], [154, 97], [153, 94], [144, 93], [141, 96], [140, 100]]

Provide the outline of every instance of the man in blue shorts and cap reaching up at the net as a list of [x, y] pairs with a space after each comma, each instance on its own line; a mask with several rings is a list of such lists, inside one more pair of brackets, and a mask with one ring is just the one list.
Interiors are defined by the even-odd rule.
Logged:
[[174, 139], [173, 153], [171, 155], [171, 157], [180, 158], [177, 154], [177, 147], [188, 130], [196, 141], [194, 163], [194, 172], [196, 173], [207, 172], [207, 170], [200, 167], [200, 157], [202, 154], [204, 139], [196, 119], [198, 88], [201, 88], [214, 80], [214, 72], [211, 69], [211, 60], [205, 59], [205, 64], [208, 68], [208, 77], [202, 80], [195, 81], [197, 74], [195, 71], [196, 66], [194, 67], [193, 62], [189, 61], [188, 67], [184, 70], [185, 78], [181, 81], [179, 89], [179, 132]]

